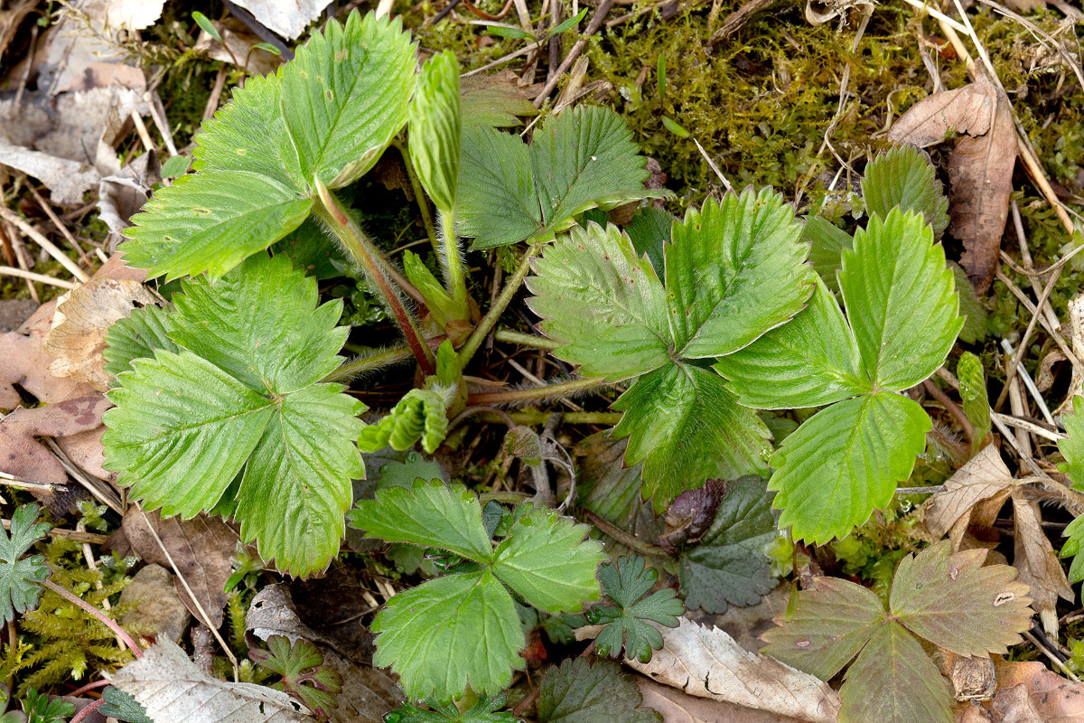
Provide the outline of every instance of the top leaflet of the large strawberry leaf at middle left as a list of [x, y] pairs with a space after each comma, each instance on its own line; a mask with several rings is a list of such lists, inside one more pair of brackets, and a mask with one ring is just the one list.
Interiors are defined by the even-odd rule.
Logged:
[[[285, 256], [249, 257], [217, 281], [189, 279], [173, 296], [169, 336], [250, 389], [286, 393], [333, 372], [350, 328], [341, 300], [322, 306], [315, 279]], [[288, 291], [287, 291], [288, 289]]]

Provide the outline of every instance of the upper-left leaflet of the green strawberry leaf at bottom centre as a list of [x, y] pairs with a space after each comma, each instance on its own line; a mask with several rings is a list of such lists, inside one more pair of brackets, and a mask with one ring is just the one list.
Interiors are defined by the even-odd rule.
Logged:
[[478, 561], [492, 557], [478, 498], [465, 487], [417, 480], [413, 489], [389, 487], [361, 500], [347, 514], [351, 527], [388, 542], [440, 547]]

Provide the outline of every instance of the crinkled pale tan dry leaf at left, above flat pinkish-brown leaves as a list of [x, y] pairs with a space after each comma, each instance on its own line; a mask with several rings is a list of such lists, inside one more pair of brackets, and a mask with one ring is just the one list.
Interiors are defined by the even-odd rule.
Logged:
[[46, 337], [44, 350], [53, 357], [49, 372], [108, 391], [112, 377], [102, 358], [105, 333], [137, 305], [155, 301], [137, 279], [96, 279], [67, 292], [56, 301], [52, 328]]

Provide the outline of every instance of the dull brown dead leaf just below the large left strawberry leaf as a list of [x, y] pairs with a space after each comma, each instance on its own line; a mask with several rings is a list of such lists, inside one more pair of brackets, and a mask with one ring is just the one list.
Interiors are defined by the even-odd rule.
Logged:
[[[145, 513], [144, 516], [139, 507], [129, 507], [121, 528], [132, 551], [143, 560], [160, 565], [167, 570], [171, 570], [172, 566], [151, 533], [149, 525], [154, 526], [162, 544], [177, 564], [178, 572], [189, 583], [215, 628], [220, 628], [222, 608], [229, 598], [224, 589], [225, 581], [233, 573], [230, 557], [237, 547], [237, 533], [220, 517], [205, 513], [192, 519], [162, 519], [156, 512]], [[203, 620], [199, 609], [181, 581], [175, 580], [173, 583], [184, 606], [196, 620]]]

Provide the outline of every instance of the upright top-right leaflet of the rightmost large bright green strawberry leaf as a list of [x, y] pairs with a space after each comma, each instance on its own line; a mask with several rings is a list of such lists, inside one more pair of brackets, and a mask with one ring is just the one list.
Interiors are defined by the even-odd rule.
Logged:
[[877, 388], [908, 389], [944, 363], [964, 325], [944, 249], [921, 216], [869, 219], [843, 250], [839, 285], [862, 361]]

